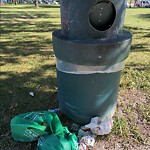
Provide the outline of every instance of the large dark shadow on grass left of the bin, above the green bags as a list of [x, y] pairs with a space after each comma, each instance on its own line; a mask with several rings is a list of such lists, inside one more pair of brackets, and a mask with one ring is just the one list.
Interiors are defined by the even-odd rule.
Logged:
[[[57, 102], [51, 98], [56, 91], [56, 76], [44, 78], [42, 75], [47, 70], [55, 72], [55, 65], [44, 65], [29, 73], [1, 72], [6, 78], [0, 80], [0, 133], [9, 129], [9, 122], [16, 114], [57, 106]], [[47, 91], [44, 87], [47, 87]], [[31, 91], [35, 93], [34, 97], [29, 95]]]

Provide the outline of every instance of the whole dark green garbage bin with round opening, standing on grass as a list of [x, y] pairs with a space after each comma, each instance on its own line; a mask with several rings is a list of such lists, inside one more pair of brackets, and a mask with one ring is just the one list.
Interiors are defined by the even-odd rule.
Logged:
[[123, 30], [125, 0], [61, 0], [53, 32], [58, 101], [77, 123], [113, 115], [132, 35]]

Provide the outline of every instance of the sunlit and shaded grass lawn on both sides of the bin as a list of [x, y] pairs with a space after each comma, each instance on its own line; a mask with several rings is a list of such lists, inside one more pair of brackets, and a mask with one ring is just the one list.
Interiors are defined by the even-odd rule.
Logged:
[[[60, 28], [59, 6], [5, 5], [0, 18], [0, 149], [30, 144], [13, 142], [10, 120], [17, 114], [57, 106], [52, 32]], [[113, 131], [99, 137], [114, 149], [148, 146], [150, 106], [149, 9], [127, 9], [125, 29], [133, 33], [131, 53], [123, 71]], [[34, 97], [29, 92], [35, 93]], [[113, 148], [111, 148], [111, 145]], [[134, 146], [133, 146], [134, 145]], [[22, 146], [22, 147], [21, 147]]]

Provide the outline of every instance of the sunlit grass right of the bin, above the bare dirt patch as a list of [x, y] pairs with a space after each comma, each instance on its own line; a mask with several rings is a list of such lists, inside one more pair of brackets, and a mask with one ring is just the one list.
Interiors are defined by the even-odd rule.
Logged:
[[150, 87], [150, 15], [149, 9], [128, 9], [125, 28], [133, 33], [131, 53], [127, 59], [121, 86], [149, 90]]

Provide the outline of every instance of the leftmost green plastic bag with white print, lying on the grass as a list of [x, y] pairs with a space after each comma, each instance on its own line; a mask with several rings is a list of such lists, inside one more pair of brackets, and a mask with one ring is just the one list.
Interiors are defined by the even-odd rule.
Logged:
[[12, 119], [10, 126], [13, 139], [22, 142], [38, 140], [40, 136], [50, 132], [44, 112], [18, 115]]

